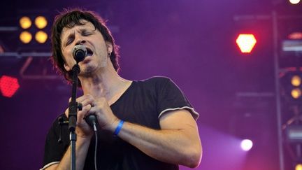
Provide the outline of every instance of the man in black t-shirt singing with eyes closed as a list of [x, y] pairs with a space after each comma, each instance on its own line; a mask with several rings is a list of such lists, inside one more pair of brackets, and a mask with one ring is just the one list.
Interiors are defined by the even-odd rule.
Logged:
[[[75, 132], [76, 168], [94, 169], [94, 131], [84, 120], [96, 115], [99, 130], [96, 163], [99, 170], [174, 170], [178, 164], [197, 167], [202, 149], [189, 101], [172, 80], [153, 77], [126, 80], [118, 75], [118, 47], [105, 22], [91, 11], [65, 10], [52, 26], [52, 61], [71, 80], [75, 45], [87, 57], [79, 62]], [[68, 102], [66, 101], [66, 106]], [[68, 109], [62, 114], [68, 120]], [[58, 142], [62, 136], [62, 142]], [[70, 169], [69, 129], [55, 120], [45, 141], [42, 169]]]

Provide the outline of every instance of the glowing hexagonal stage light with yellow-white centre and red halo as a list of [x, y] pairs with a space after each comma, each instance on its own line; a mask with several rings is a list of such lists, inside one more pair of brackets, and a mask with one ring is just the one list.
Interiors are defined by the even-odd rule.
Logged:
[[236, 39], [236, 43], [243, 53], [250, 53], [257, 43], [253, 34], [240, 34]]

